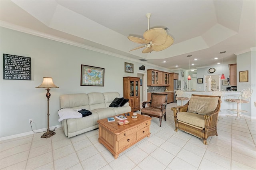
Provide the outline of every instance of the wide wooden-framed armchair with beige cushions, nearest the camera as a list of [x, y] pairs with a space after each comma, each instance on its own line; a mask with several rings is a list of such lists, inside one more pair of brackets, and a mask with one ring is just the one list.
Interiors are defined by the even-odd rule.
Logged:
[[178, 129], [203, 139], [207, 145], [209, 136], [218, 136], [217, 122], [220, 96], [194, 95], [186, 105], [172, 107], [175, 131]]

